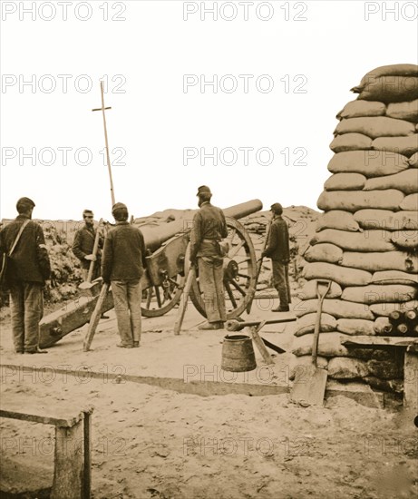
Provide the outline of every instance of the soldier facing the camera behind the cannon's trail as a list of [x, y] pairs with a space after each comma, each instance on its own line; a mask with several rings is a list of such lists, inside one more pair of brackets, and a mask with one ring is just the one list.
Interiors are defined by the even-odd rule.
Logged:
[[83, 280], [87, 280], [90, 269], [90, 262], [95, 261], [92, 279], [100, 276], [100, 259], [101, 249], [103, 247], [103, 238], [99, 237], [99, 249], [97, 255], [92, 254], [94, 247], [94, 240], [96, 239], [96, 230], [94, 229], [94, 214], [92, 210], [83, 210], [84, 225], [81, 229], [77, 230], [73, 240], [73, 254], [80, 260], [82, 265]]

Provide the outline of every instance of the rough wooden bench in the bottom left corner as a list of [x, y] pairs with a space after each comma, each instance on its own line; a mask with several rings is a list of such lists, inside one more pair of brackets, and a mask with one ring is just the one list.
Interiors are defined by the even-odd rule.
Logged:
[[55, 426], [51, 499], [90, 499], [92, 407], [73, 416], [44, 416], [44, 408], [24, 412], [7, 405], [1, 417]]

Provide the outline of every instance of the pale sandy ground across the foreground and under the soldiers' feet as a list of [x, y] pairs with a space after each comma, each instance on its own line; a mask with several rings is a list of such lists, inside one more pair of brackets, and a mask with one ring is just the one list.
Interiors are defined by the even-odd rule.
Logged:
[[[323, 408], [302, 408], [291, 404], [287, 394], [198, 396], [123, 378], [117, 383], [106, 376], [106, 372], [116, 373], [116, 366], [127, 374], [150, 377], [184, 377], [185, 365], [204, 366], [208, 372], [208, 363], [220, 364], [219, 342], [225, 332], [198, 332], [202, 318], [190, 310], [184, 325], [188, 332], [173, 338], [173, 310], [163, 318], [145, 319], [141, 347], [125, 350], [115, 347], [116, 324], [110, 315], [100, 323], [94, 349], [88, 353], [82, 351], [82, 328], [47, 355], [16, 357], [7, 318], [1, 327], [3, 365], [52, 370], [59, 364], [87, 370], [102, 366], [103, 377], [97, 379], [58, 371], [51, 376], [51, 369], [1, 370], [3, 406], [30, 408], [36, 403], [51, 411], [68, 408], [70, 414], [79, 407], [94, 406], [94, 498], [418, 496], [417, 430], [405, 425], [394, 408], [365, 407], [345, 396], [329, 397]], [[251, 315], [273, 316], [261, 308]], [[288, 326], [266, 331], [270, 341], [289, 346]], [[207, 336], [202, 339], [202, 334]], [[256, 357], [261, 367], [258, 353]], [[277, 372], [287, 365], [288, 357], [275, 357]], [[247, 378], [247, 382], [257, 383], [257, 379]], [[11, 419], [1, 419], [0, 425], [2, 457], [19, 465], [16, 484], [28, 476], [24, 470], [29, 469], [51, 478], [53, 428]]]

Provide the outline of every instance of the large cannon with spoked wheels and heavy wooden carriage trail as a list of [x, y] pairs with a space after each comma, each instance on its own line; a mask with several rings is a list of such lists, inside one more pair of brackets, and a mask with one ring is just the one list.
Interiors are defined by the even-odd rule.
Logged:
[[[257, 286], [257, 260], [248, 232], [238, 219], [261, 210], [261, 201], [244, 202], [224, 210], [228, 226], [229, 251], [224, 259], [224, 287], [227, 318], [239, 317], [254, 298]], [[148, 251], [147, 269], [141, 279], [144, 317], [159, 317], [180, 301], [189, 270], [189, 242], [193, 216], [170, 220], [163, 225], [138, 226]], [[50, 347], [74, 329], [90, 321], [101, 289], [99, 279], [89, 290], [63, 308], [44, 317], [40, 324], [40, 346]], [[190, 299], [199, 313], [206, 317], [205, 304], [199, 287], [199, 273], [190, 289]], [[108, 293], [102, 310], [113, 308], [112, 293]]]

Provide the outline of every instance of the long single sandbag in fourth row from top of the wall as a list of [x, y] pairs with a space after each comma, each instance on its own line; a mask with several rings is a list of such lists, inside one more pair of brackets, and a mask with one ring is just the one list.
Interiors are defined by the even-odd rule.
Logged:
[[334, 133], [363, 133], [372, 139], [377, 137], [398, 137], [413, 135], [415, 125], [411, 122], [404, 122], [387, 116], [348, 118], [336, 125]]

